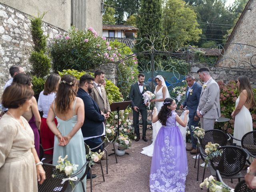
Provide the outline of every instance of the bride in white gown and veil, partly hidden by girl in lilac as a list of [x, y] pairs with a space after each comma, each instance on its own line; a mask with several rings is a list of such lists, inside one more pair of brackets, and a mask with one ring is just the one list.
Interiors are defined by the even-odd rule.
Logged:
[[[170, 97], [170, 94], [169, 94], [168, 88], [166, 86], [166, 83], [164, 81], [164, 78], [161, 75], [157, 75], [155, 81], [157, 84], [155, 91], [154, 91], [156, 98], [154, 98], [150, 102], [155, 102], [155, 107], [157, 109], [157, 112], [159, 112], [163, 106], [164, 99]], [[150, 146], [142, 148], [143, 151], [140, 152], [141, 154], [144, 154], [144, 155], [147, 155], [150, 157], [153, 156], [155, 139], [158, 134], [158, 131], [162, 127], [162, 124], [160, 124], [160, 122], [157, 121], [155, 123], [152, 123], [152, 127], [153, 127], [153, 135], [152, 135], [153, 142]]]

